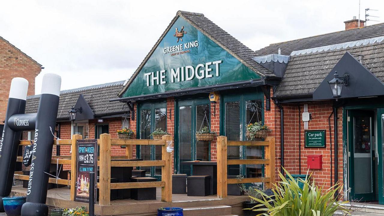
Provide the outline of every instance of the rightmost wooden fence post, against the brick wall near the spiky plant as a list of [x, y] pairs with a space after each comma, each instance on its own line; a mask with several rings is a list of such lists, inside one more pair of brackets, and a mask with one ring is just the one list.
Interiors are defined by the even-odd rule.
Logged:
[[268, 136], [265, 141], [269, 141], [269, 145], [265, 146], [265, 159], [269, 160], [269, 164], [265, 164], [265, 177], [269, 177], [270, 181], [265, 183], [266, 188], [272, 188], [275, 184], [275, 137]]

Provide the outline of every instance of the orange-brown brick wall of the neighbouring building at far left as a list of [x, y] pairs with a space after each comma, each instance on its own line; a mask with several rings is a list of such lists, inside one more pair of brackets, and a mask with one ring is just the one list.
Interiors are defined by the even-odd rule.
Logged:
[[40, 65], [0, 39], [0, 124], [5, 119], [12, 78], [26, 78], [29, 82], [28, 95], [35, 95], [35, 77], [40, 72]]

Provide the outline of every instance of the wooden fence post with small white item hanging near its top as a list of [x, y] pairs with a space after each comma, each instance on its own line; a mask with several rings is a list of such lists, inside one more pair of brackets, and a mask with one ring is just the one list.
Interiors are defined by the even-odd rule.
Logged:
[[172, 153], [167, 152], [169, 141], [173, 141], [171, 135], [162, 136], [162, 140], [166, 140], [166, 145], [161, 146], [161, 160], [165, 161], [165, 166], [161, 167], [161, 181], [166, 185], [161, 188], [161, 201], [172, 202]]

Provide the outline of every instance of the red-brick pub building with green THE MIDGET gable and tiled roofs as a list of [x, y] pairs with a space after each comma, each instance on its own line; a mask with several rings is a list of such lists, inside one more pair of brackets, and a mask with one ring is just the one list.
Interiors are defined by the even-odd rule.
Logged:
[[[344, 23], [343, 31], [253, 51], [203, 14], [179, 11], [131, 78], [114, 88], [113, 97], [99, 95], [94, 105], [120, 111], [104, 116], [116, 123], [104, 128], [113, 137], [124, 126], [136, 139], [151, 139], [157, 128], [167, 131], [173, 137], [174, 173], [193, 174], [185, 161], [217, 160], [217, 138], [196, 139], [203, 127], [244, 141], [247, 125], [262, 122], [276, 140], [277, 179], [284, 167], [291, 174], [311, 174], [324, 188], [343, 183], [345, 200], [384, 204], [384, 23]], [[89, 94], [83, 93], [83, 103], [94, 99]], [[60, 136], [92, 123], [81, 133], [97, 138], [96, 115], [79, 123], [68, 120], [71, 108], [79, 110], [75, 101], [63, 106], [63, 113], [59, 108], [61, 127], [72, 128], [61, 129]], [[121, 125], [127, 122], [122, 116], [129, 116], [129, 124]], [[119, 154], [124, 151], [112, 151]], [[134, 157], [159, 160], [161, 150], [137, 146]], [[258, 158], [262, 148], [228, 147], [228, 159]], [[156, 167], [141, 169], [161, 175]], [[231, 176], [262, 173], [261, 165], [228, 166]]]

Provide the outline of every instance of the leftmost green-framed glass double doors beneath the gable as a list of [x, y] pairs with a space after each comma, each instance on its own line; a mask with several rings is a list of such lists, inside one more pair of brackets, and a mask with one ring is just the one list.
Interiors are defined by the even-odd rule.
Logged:
[[[157, 128], [167, 130], [167, 108], [166, 102], [146, 103], [139, 105], [138, 138], [151, 139], [151, 133]], [[161, 146], [158, 145], [139, 145], [137, 153], [142, 160], [161, 160]], [[141, 167], [145, 169], [146, 174], [161, 178], [161, 166]]]

